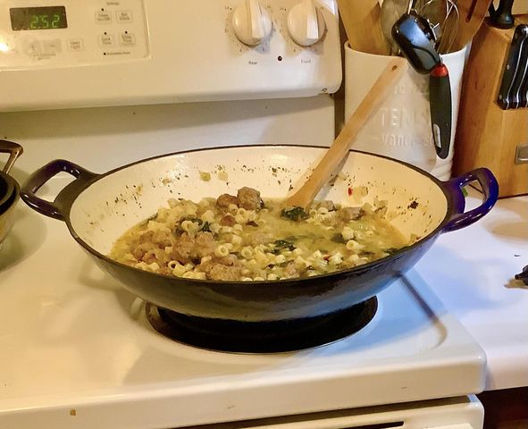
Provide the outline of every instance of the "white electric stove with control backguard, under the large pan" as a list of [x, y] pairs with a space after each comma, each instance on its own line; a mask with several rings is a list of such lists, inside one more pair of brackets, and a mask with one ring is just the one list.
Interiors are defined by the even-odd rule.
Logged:
[[[24, 147], [21, 183], [59, 157], [105, 172], [189, 148], [327, 146], [340, 46], [333, 0], [0, 0], [0, 138]], [[0, 249], [2, 428], [482, 428], [482, 349], [415, 272], [339, 341], [224, 353], [155, 331], [64, 223], [17, 214]]]

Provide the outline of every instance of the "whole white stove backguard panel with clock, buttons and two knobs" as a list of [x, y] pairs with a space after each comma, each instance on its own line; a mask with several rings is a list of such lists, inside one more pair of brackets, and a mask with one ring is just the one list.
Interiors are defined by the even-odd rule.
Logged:
[[312, 97], [336, 0], [0, 0], [0, 112]]

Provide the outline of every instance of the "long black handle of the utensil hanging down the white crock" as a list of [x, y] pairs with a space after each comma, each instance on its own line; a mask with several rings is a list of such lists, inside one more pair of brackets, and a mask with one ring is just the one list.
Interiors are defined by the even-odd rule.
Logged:
[[429, 75], [429, 109], [436, 154], [446, 159], [451, 144], [451, 85], [448, 68], [443, 63]]

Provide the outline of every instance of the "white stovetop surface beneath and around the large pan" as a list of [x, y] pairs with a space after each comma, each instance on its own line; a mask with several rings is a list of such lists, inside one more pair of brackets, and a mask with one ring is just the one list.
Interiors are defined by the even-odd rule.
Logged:
[[145, 302], [102, 273], [64, 223], [17, 210], [0, 250], [0, 415], [113, 401], [139, 409], [155, 396], [184, 408], [229, 398], [248, 418], [264, 391], [267, 410], [291, 414], [482, 390], [482, 350], [414, 272], [340, 341], [277, 354], [197, 349], [155, 332]]

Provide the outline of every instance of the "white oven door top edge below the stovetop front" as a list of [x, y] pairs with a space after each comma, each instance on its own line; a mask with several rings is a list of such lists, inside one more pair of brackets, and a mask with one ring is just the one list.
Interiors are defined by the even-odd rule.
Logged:
[[[474, 395], [281, 416], [194, 429], [482, 429], [484, 408]], [[190, 429], [190, 428], [188, 428]]]

